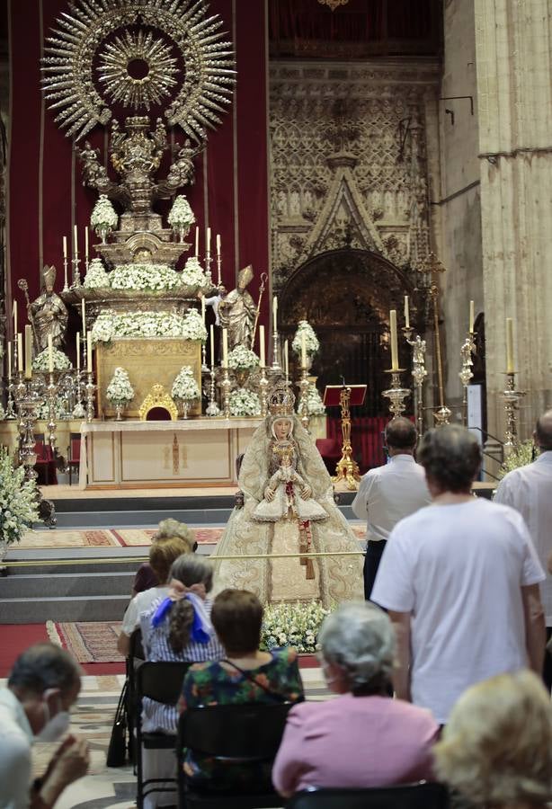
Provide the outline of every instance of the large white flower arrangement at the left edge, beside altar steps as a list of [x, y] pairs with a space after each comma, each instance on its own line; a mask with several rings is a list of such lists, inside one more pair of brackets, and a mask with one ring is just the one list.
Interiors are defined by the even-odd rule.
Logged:
[[0, 541], [19, 542], [39, 519], [39, 493], [33, 480], [25, 480], [25, 467], [13, 467], [7, 449], [0, 449]]

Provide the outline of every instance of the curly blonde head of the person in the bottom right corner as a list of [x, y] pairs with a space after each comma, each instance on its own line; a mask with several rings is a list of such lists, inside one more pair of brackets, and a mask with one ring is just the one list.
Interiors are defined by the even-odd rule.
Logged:
[[435, 771], [475, 807], [544, 809], [552, 799], [552, 705], [531, 671], [467, 689], [453, 707]]

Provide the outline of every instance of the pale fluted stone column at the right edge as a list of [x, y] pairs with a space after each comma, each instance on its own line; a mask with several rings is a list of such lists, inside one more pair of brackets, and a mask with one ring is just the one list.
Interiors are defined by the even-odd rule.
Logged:
[[488, 429], [503, 435], [512, 317], [522, 439], [552, 405], [551, 15], [552, 0], [475, 0]]

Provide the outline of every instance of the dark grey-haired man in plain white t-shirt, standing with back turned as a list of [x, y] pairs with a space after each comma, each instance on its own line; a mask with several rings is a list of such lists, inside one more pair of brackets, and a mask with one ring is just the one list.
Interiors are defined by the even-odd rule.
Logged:
[[396, 625], [397, 696], [444, 725], [474, 683], [542, 670], [545, 573], [521, 515], [470, 494], [481, 450], [466, 428], [427, 432], [418, 459], [433, 502], [391, 532], [372, 600]]

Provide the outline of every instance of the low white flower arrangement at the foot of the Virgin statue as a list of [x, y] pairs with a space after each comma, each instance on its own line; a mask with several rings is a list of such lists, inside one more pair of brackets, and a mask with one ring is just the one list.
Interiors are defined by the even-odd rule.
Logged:
[[263, 612], [261, 649], [293, 646], [298, 652], [315, 653], [320, 648], [316, 640], [318, 632], [331, 611], [318, 601], [267, 604]]

